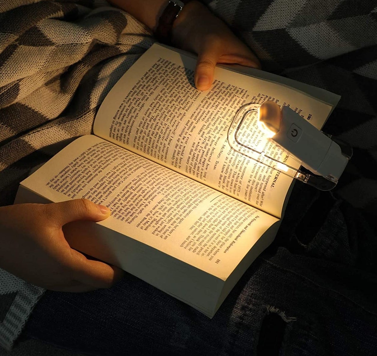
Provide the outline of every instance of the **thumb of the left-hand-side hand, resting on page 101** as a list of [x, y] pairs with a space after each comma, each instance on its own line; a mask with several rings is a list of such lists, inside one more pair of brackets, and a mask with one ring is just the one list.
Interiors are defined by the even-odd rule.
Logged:
[[66, 202], [51, 203], [49, 215], [60, 226], [77, 220], [101, 221], [110, 216], [110, 209], [87, 199], [72, 199]]

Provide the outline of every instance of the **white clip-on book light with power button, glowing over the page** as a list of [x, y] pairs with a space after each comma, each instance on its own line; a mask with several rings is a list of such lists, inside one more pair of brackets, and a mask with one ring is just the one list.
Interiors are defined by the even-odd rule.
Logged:
[[[277, 150], [271, 150], [269, 140]], [[273, 101], [243, 105], [231, 122], [228, 142], [244, 156], [320, 190], [336, 186], [352, 156], [351, 147], [336, 143], [290, 107], [280, 110]], [[312, 173], [299, 170], [300, 165]]]

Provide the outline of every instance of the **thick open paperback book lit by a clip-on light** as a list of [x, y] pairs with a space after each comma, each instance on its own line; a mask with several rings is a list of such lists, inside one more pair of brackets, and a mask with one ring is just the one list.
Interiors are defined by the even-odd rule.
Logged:
[[212, 317], [273, 241], [293, 180], [230, 148], [234, 114], [247, 102], [273, 100], [320, 128], [339, 96], [230, 66], [216, 67], [211, 89], [200, 92], [195, 63], [153, 45], [104, 99], [94, 135], [21, 182], [15, 203], [86, 198], [108, 206], [106, 220], [67, 227], [72, 248]]

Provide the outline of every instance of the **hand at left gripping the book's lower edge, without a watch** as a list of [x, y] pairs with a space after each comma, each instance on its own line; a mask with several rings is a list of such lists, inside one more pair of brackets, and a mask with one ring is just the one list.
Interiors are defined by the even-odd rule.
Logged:
[[87, 292], [108, 288], [123, 271], [88, 260], [71, 249], [62, 226], [77, 220], [100, 221], [106, 206], [86, 199], [51, 204], [0, 207], [0, 267], [23, 280], [50, 290]]

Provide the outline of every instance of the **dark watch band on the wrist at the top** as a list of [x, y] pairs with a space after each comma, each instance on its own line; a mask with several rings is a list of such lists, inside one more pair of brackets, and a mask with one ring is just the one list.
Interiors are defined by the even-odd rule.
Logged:
[[159, 42], [170, 44], [173, 23], [179, 15], [179, 12], [181, 12], [182, 8], [189, 1], [190, 0], [169, 1], [158, 19], [158, 25], [155, 31], [155, 36]]

